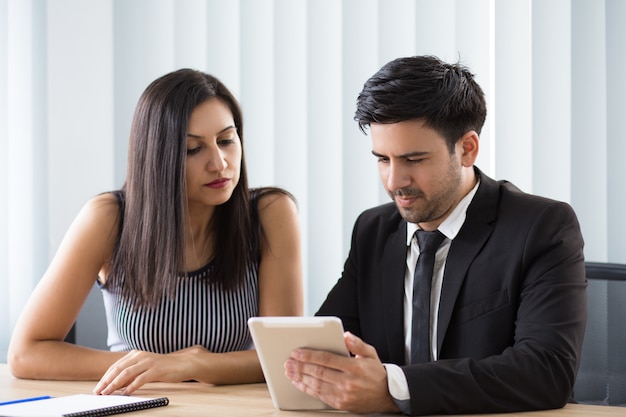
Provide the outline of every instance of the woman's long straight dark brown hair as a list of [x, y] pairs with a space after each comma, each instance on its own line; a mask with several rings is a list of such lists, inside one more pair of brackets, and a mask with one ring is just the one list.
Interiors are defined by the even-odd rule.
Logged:
[[[188, 122], [200, 103], [217, 98], [233, 114], [243, 148], [241, 109], [217, 78], [181, 69], [153, 81], [141, 95], [132, 121], [118, 241], [107, 286], [120, 288], [136, 308], [172, 294], [185, 274], [186, 138]], [[258, 261], [257, 228], [251, 226], [250, 191], [242, 151], [239, 183], [211, 220], [214, 244], [210, 274], [224, 289], [244, 282]]]

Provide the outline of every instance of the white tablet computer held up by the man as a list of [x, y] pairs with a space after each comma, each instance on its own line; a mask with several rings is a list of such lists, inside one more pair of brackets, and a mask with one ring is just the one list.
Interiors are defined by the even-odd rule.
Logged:
[[252, 317], [248, 320], [248, 327], [274, 407], [281, 410], [331, 408], [293, 386], [285, 376], [285, 361], [291, 351], [299, 347], [348, 356], [339, 318]]

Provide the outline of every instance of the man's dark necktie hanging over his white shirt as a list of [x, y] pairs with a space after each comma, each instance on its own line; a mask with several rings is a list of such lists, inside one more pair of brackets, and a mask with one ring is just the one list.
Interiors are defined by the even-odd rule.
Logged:
[[415, 232], [420, 255], [413, 275], [413, 317], [411, 322], [411, 363], [430, 361], [430, 288], [435, 252], [445, 239], [440, 231]]

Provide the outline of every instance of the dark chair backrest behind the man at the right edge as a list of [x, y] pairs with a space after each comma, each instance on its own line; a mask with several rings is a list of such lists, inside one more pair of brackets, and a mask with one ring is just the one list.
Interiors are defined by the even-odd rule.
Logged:
[[626, 265], [585, 267], [588, 317], [574, 399], [626, 406]]

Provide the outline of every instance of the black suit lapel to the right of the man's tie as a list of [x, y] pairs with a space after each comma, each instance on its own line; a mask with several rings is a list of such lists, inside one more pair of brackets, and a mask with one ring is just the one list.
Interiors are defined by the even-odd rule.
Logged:
[[484, 175], [478, 168], [475, 170], [480, 176], [480, 185], [467, 208], [463, 227], [452, 241], [446, 259], [437, 324], [438, 352], [441, 352], [441, 345], [452, 318], [454, 304], [467, 271], [491, 235], [493, 230], [491, 225], [496, 218], [499, 201], [498, 184]]

